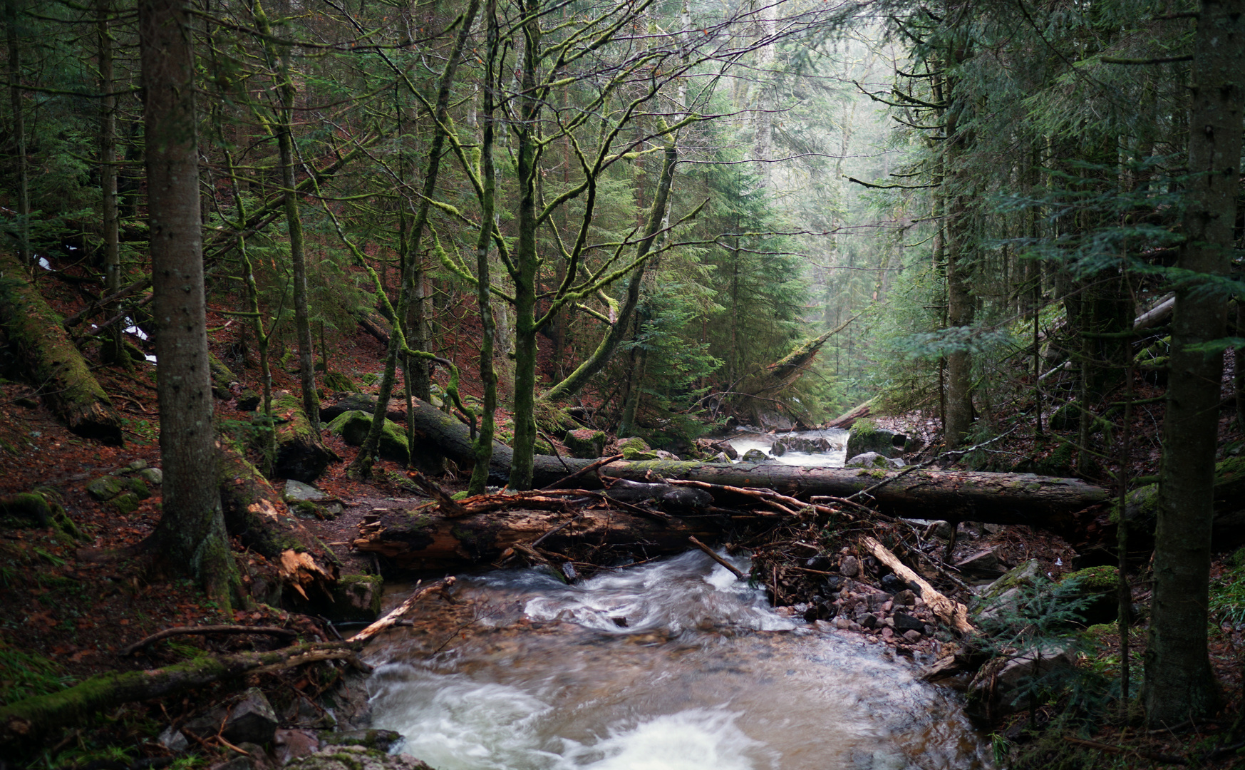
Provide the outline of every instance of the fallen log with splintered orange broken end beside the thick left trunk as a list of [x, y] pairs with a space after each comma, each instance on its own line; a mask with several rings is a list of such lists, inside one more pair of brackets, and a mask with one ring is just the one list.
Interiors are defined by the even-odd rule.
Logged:
[[337, 557], [332, 551], [288, 511], [273, 485], [240, 452], [222, 446], [218, 463], [229, 535], [271, 562], [281, 583], [301, 599], [331, 597], [337, 583]]

